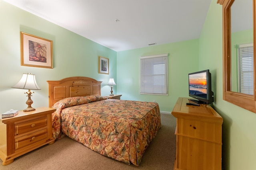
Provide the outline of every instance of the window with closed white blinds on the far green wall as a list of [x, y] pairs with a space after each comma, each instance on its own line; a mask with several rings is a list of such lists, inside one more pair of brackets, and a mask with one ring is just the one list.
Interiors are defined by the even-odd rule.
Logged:
[[168, 95], [168, 54], [140, 57], [140, 94]]

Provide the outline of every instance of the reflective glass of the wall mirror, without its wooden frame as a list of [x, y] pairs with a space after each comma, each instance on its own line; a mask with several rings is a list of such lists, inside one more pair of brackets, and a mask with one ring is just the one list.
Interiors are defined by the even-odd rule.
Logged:
[[[231, 91], [253, 95], [253, 3], [231, 6]], [[251, 57], [251, 58], [250, 58]]]

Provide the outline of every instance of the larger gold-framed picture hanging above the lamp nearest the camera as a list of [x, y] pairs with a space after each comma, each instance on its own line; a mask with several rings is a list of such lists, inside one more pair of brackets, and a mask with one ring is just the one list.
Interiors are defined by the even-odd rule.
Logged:
[[21, 65], [53, 68], [52, 41], [20, 32]]

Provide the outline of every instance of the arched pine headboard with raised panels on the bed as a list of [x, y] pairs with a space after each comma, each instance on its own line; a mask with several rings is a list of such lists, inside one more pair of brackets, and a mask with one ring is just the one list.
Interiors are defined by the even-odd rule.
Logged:
[[102, 82], [89, 77], [68, 77], [47, 82], [49, 85], [49, 107], [68, 97], [101, 95], [100, 84]]

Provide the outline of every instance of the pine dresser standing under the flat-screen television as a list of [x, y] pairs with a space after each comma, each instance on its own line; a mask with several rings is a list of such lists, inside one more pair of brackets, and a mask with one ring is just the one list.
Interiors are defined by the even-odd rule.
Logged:
[[186, 105], [178, 98], [174, 170], [221, 170], [222, 117], [208, 104]]

